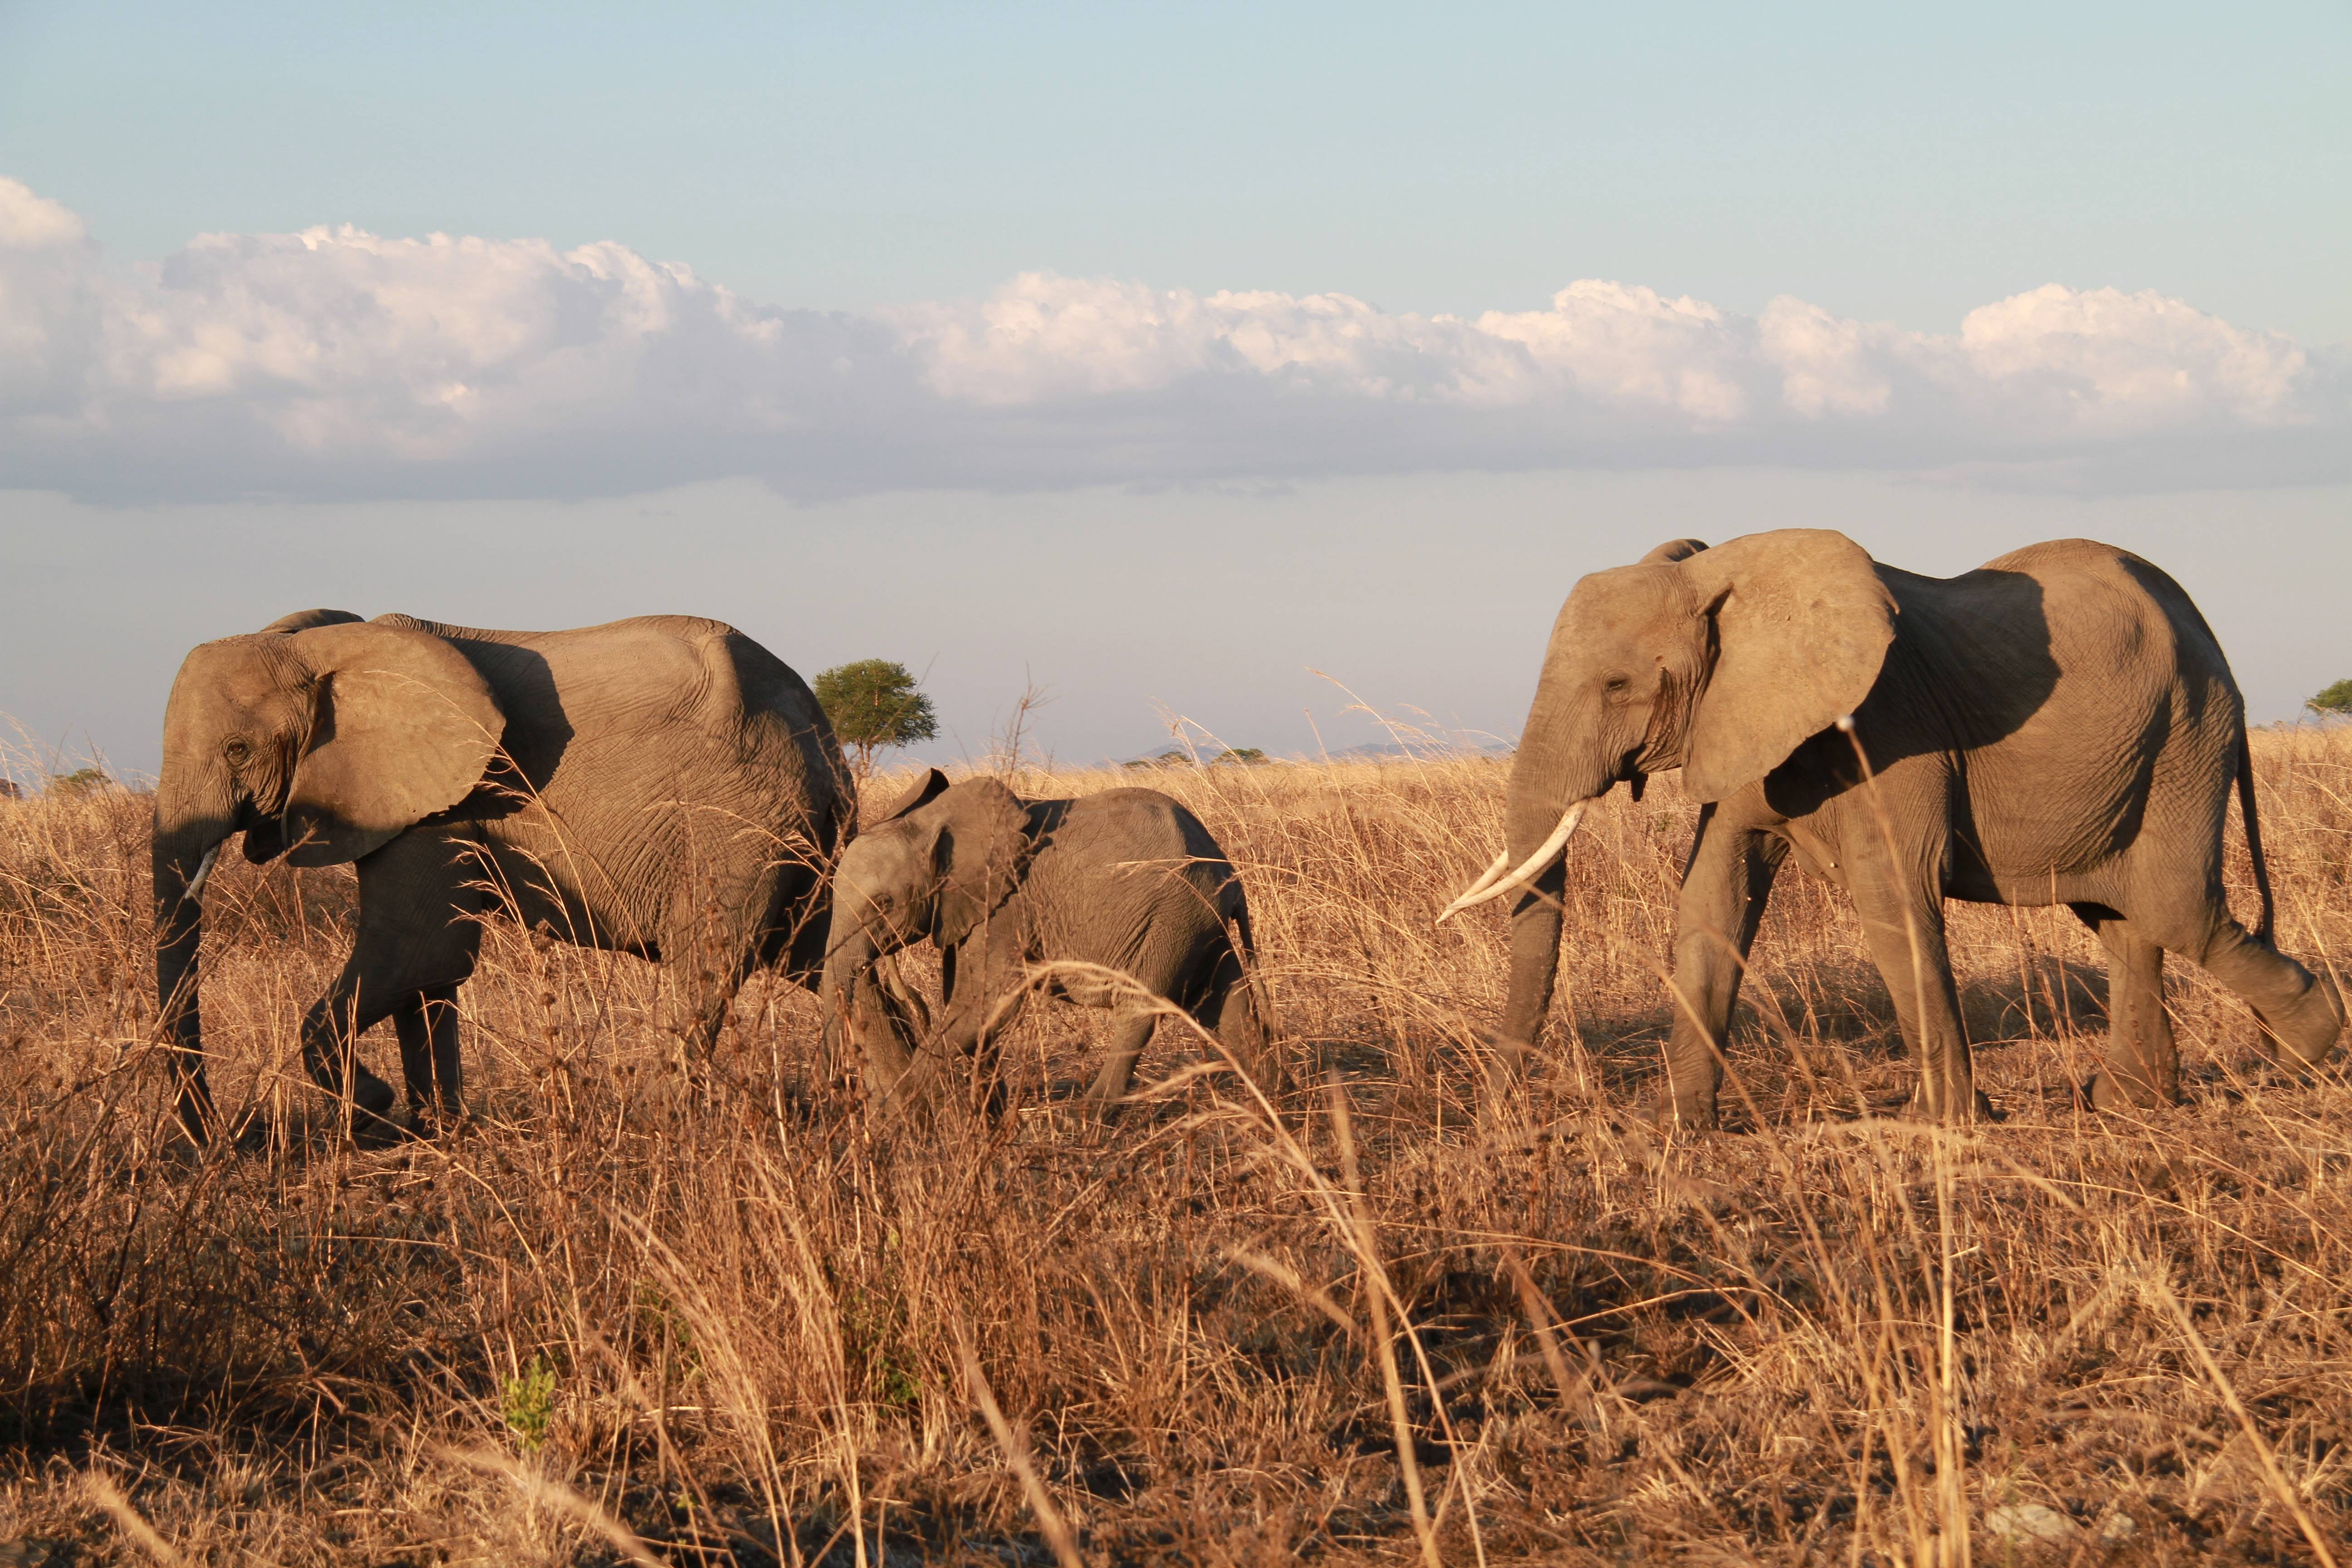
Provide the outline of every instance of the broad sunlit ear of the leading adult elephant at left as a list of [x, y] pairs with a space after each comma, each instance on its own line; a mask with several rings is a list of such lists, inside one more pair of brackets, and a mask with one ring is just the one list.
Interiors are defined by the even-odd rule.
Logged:
[[482, 780], [506, 715], [440, 637], [372, 621], [292, 632], [315, 677], [310, 736], [282, 835], [289, 865], [341, 865], [383, 846]]

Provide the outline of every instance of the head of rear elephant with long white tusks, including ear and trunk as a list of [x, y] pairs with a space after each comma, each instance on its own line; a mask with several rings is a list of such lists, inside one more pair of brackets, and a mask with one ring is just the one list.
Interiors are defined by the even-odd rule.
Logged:
[[[1658, 545], [1576, 583], [1552, 623], [1510, 771], [1503, 856], [1439, 919], [1526, 889], [1512, 910], [1505, 1046], [1526, 1046], [1559, 966], [1562, 856], [1618, 780], [1682, 769], [1717, 802], [1851, 715], [1893, 642], [1896, 602], [1830, 529]], [[1534, 886], [1529, 886], [1534, 884]]]

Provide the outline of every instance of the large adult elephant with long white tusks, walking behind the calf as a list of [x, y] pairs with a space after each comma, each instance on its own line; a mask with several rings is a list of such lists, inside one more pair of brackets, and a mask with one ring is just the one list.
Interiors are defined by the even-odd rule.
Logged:
[[[1576, 820], [1665, 769], [1703, 802], [1663, 1107], [1684, 1126], [1715, 1126], [1731, 1004], [1790, 851], [1853, 896], [1940, 1119], [1980, 1107], [1945, 898], [2065, 903], [2098, 933], [2100, 1107], [2180, 1093], [2166, 952], [2251, 1004], [2298, 1063], [2340, 1030], [2336, 985], [2272, 947], [2244, 701], [2220, 644], [2178, 583], [2124, 550], [2070, 538], [1926, 578], [1844, 534], [1783, 529], [1715, 550], [1675, 541], [1578, 581], [1512, 764], [1510, 844], [1446, 910], [1517, 893], [1508, 1060], [1550, 1011]], [[2223, 898], [2232, 783], [2263, 898], [2251, 933]]]

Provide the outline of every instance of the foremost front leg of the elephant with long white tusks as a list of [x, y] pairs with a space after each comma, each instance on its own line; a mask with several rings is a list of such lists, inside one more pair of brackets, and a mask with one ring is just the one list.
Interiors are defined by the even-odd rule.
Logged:
[[1698, 816], [1698, 839], [1682, 870], [1675, 910], [1675, 1032], [1665, 1048], [1663, 1119], [1689, 1128], [1717, 1124], [1724, 1046], [1740, 971], [1764, 924], [1773, 875], [1788, 842], [1757, 827], [1726, 825], [1715, 806]]

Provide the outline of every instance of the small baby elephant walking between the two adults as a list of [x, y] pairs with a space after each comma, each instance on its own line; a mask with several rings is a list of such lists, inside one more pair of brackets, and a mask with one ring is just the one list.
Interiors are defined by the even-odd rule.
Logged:
[[[917, 1065], [889, 1025], [877, 959], [938, 943], [946, 1013]], [[1112, 1013], [1110, 1060], [1087, 1098], [1110, 1117], [1152, 1034], [1155, 997], [1214, 1030], [1251, 1074], [1265, 1018], [1242, 959], [1249, 905], [1225, 851], [1160, 790], [1028, 802], [993, 778], [922, 783], [842, 851], [826, 952], [826, 1046], [866, 1048], [873, 1093], [908, 1100], [941, 1060], [988, 1053], [1018, 1013], [1028, 964], [1082, 961], [1108, 976], [1056, 976], [1047, 994]], [[1138, 994], [1138, 992], [1148, 992]], [[854, 1025], [851, 1025], [854, 1020]]]

